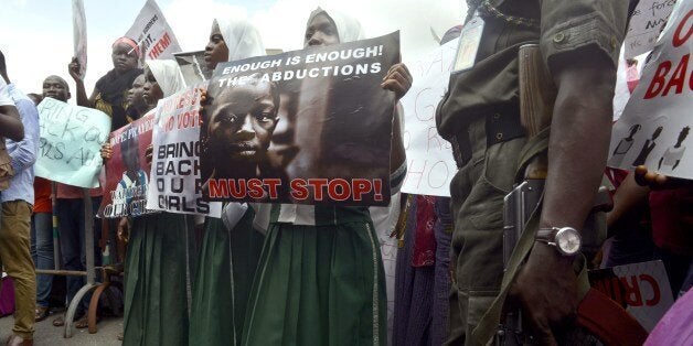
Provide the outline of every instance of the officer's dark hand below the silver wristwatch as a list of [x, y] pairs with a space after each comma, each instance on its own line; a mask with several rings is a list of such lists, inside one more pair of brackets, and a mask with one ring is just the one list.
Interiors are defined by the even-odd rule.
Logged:
[[510, 290], [510, 299], [522, 307], [522, 316], [540, 345], [557, 345], [552, 327], [571, 322], [579, 303], [573, 258], [535, 241]]

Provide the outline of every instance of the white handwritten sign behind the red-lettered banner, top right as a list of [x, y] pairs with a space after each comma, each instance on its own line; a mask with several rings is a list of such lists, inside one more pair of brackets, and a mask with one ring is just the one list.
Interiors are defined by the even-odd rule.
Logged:
[[640, 0], [630, 17], [623, 40], [626, 58], [644, 54], [654, 47], [675, 3], [676, 0]]

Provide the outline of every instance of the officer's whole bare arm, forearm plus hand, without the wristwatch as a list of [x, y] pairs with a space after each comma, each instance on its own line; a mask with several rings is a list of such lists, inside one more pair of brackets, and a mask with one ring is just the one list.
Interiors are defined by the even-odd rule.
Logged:
[[[582, 229], [604, 176], [616, 68], [604, 54], [585, 54], [550, 62], [557, 94], [540, 227]], [[552, 327], [557, 331], [574, 316], [576, 285], [572, 259], [535, 242], [518, 275], [515, 295], [540, 344], [556, 345]]]

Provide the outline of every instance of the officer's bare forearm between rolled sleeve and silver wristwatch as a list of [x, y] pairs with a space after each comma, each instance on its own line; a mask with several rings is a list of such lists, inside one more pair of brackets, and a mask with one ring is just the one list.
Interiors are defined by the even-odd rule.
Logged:
[[555, 78], [541, 227], [582, 229], [604, 175], [616, 71], [606, 60], [572, 62]]

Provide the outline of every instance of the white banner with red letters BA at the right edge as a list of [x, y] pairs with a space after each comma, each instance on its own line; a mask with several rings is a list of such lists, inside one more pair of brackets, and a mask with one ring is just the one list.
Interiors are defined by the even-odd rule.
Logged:
[[[608, 165], [646, 165], [662, 174], [693, 179], [686, 138], [693, 123], [693, 3], [676, 4], [611, 136]], [[689, 140], [690, 142], [690, 140]]]

